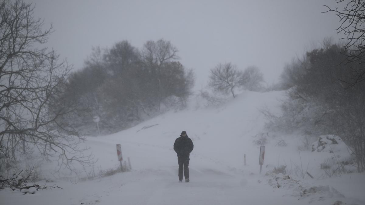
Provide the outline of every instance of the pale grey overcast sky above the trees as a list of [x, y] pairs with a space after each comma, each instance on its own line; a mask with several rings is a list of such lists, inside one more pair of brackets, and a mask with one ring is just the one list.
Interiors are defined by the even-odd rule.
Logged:
[[26, 0], [35, 16], [53, 23], [47, 46], [80, 69], [92, 46], [128, 40], [141, 48], [164, 38], [179, 50], [180, 62], [194, 69], [198, 88], [209, 69], [232, 62], [256, 65], [271, 84], [285, 63], [325, 37], [339, 39], [334, 13], [321, 13], [333, 0]]

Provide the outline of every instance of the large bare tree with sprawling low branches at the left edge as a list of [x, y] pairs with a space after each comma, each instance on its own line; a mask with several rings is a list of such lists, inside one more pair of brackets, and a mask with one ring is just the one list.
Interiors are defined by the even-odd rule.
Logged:
[[[55, 97], [64, 89], [72, 67], [58, 63], [58, 55], [36, 45], [46, 43], [52, 26], [33, 17], [34, 6], [22, 0], [0, 3], [0, 145], [15, 162], [37, 151], [45, 159], [57, 156], [61, 167], [91, 163], [78, 147], [81, 136], [58, 119], [72, 112], [72, 104]], [[55, 100], [57, 98], [57, 100]]]

